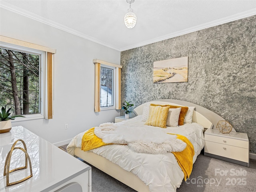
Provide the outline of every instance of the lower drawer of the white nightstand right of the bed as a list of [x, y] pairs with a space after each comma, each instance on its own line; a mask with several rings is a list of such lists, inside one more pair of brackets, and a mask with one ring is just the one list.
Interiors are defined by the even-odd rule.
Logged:
[[[226, 139], [226, 138], [223, 138], [223, 139]], [[248, 145], [248, 142], [247, 142], [247, 145]], [[204, 152], [242, 161], [242, 162], [247, 162], [247, 163], [249, 162], [249, 150], [241, 147], [205, 141]]]

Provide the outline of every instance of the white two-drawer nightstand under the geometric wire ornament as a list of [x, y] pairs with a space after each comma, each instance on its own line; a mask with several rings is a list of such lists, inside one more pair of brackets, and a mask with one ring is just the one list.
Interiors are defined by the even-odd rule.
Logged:
[[204, 155], [249, 167], [249, 140], [246, 133], [204, 132]]

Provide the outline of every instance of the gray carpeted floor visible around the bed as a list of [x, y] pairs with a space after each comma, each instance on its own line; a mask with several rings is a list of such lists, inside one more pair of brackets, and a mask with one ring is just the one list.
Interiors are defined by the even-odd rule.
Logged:
[[[66, 146], [59, 148], [66, 151]], [[94, 166], [90, 166], [92, 192], [136, 192]], [[193, 165], [190, 178], [186, 182], [183, 180], [177, 192], [256, 192], [255, 179], [256, 160], [250, 159], [250, 167], [245, 167], [200, 154]]]

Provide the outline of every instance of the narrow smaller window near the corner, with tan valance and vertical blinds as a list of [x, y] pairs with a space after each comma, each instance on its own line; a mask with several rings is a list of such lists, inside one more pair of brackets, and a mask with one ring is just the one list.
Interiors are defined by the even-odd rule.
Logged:
[[101, 60], [95, 64], [95, 112], [121, 109], [120, 76], [122, 66]]

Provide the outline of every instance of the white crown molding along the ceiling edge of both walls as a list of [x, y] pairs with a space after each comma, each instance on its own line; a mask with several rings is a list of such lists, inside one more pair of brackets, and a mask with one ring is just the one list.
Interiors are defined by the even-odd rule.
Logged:
[[181, 36], [181, 35], [184, 35], [184, 34], [188, 34], [188, 33], [191, 33], [191, 32], [195, 32], [195, 31], [198, 31], [198, 30], [210, 28], [210, 27], [213, 27], [213, 26], [218, 26], [218, 25], [221, 25], [221, 24], [224, 24], [224, 23], [232, 22], [232, 21], [235, 21], [235, 20], [239, 20], [239, 19], [242, 19], [242, 18], [249, 17], [249, 16], [256, 15], [256, 8], [254, 8], [252, 10], [248, 10], [248, 11], [245, 11], [245, 12], [242, 12], [242, 13], [239, 13], [239, 14], [235, 14], [235, 15], [232, 15], [232, 16], [228, 16], [228, 17], [225, 17], [225, 18], [218, 19], [218, 20], [214, 20], [212, 22], [208, 22], [208, 23], [205, 23], [205, 24], [201, 24], [201, 25], [198, 25], [198, 26], [187, 28], [185, 30], [180, 30], [178, 32], [166, 34], [164, 36], [160, 36], [158, 38], [153, 38], [153, 39], [150, 39], [148, 41], [140, 42], [138, 44], [133, 44], [131, 46], [118, 48], [116, 46], [108, 44], [107, 42], [104, 42], [102, 40], [98, 40], [98, 39], [96, 39], [92, 36], [88, 36], [84, 33], [78, 32], [78, 31], [76, 31], [72, 28], [69, 28], [69, 27], [64, 26], [62, 24], [59, 24], [59, 23], [54, 22], [52, 20], [43, 18], [43, 17], [41, 17], [37, 14], [28, 12], [28, 11], [26, 11], [24, 9], [21, 9], [21, 8], [18, 8], [16, 6], [13, 6], [13, 5], [11, 5], [7, 2], [2, 1], [1, 4], [0, 4], [0, 7], [4, 8], [6, 10], [9, 10], [9, 11], [15, 12], [17, 14], [20, 14], [22, 16], [26, 16], [26, 17], [31, 18], [33, 20], [36, 20], [38, 22], [42, 22], [42, 23], [47, 24], [49, 26], [52, 26], [54, 28], [58, 28], [58, 29], [63, 30], [65, 32], [74, 34], [74, 35], [79, 36], [81, 38], [84, 38], [84, 39], [90, 40], [92, 42], [101, 44], [101, 45], [106, 46], [108, 48], [120, 51], [120, 52], [129, 50], [129, 49], [133, 49], [133, 48], [137, 48], [137, 47], [140, 47], [140, 46], [145, 46], [145, 45], [148, 45], [148, 44], [152, 44], [152, 43], [159, 42], [159, 41], [162, 41], [162, 40], [174, 38], [174, 37]]

